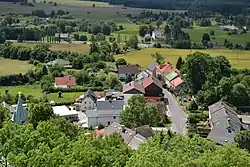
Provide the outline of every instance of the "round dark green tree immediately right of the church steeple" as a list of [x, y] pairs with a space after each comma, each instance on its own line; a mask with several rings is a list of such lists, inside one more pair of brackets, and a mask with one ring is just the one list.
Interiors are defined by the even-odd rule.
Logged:
[[50, 104], [42, 102], [29, 104], [29, 123], [33, 124], [34, 127], [38, 125], [38, 122], [47, 121], [53, 116]]

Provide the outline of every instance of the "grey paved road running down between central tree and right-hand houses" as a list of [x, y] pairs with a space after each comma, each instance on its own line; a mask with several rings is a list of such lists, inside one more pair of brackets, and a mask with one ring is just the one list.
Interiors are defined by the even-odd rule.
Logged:
[[171, 117], [171, 130], [177, 134], [185, 135], [187, 133], [187, 114], [182, 110], [175, 96], [166, 89], [163, 90], [163, 93], [169, 102], [167, 115]]

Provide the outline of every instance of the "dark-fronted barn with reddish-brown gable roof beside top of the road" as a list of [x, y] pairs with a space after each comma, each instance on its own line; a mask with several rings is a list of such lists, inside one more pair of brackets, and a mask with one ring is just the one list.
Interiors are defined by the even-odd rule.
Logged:
[[162, 94], [162, 84], [153, 76], [144, 79], [143, 86], [145, 89], [145, 96], [160, 96], [160, 94]]

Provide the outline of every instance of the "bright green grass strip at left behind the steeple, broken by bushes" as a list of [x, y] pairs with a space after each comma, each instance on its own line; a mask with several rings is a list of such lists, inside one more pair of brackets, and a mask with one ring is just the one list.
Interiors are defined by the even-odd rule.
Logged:
[[[4, 94], [5, 90], [9, 90], [9, 93], [12, 96], [16, 96], [19, 91], [22, 92], [22, 94], [24, 94], [26, 97], [28, 95], [32, 95], [35, 98], [41, 98], [45, 96], [42, 93], [40, 85], [0, 86], [0, 94]], [[47, 98], [56, 103], [73, 102], [74, 99], [78, 98], [80, 95], [83, 94], [84, 92], [63, 93], [62, 98], [58, 98], [57, 93], [51, 93], [47, 95]]]

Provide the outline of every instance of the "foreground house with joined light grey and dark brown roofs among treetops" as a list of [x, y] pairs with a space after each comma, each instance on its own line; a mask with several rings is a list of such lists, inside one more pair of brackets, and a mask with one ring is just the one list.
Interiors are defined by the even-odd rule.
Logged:
[[120, 134], [124, 140], [124, 143], [135, 150], [138, 149], [141, 143], [144, 143], [148, 139], [153, 137], [153, 131], [148, 125], [141, 126], [135, 128], [135, 130], [132, 130], [117, 122], [113, 122], [105, 129], [97, 131], [96, 134], [112, 135], [114, 133]]

